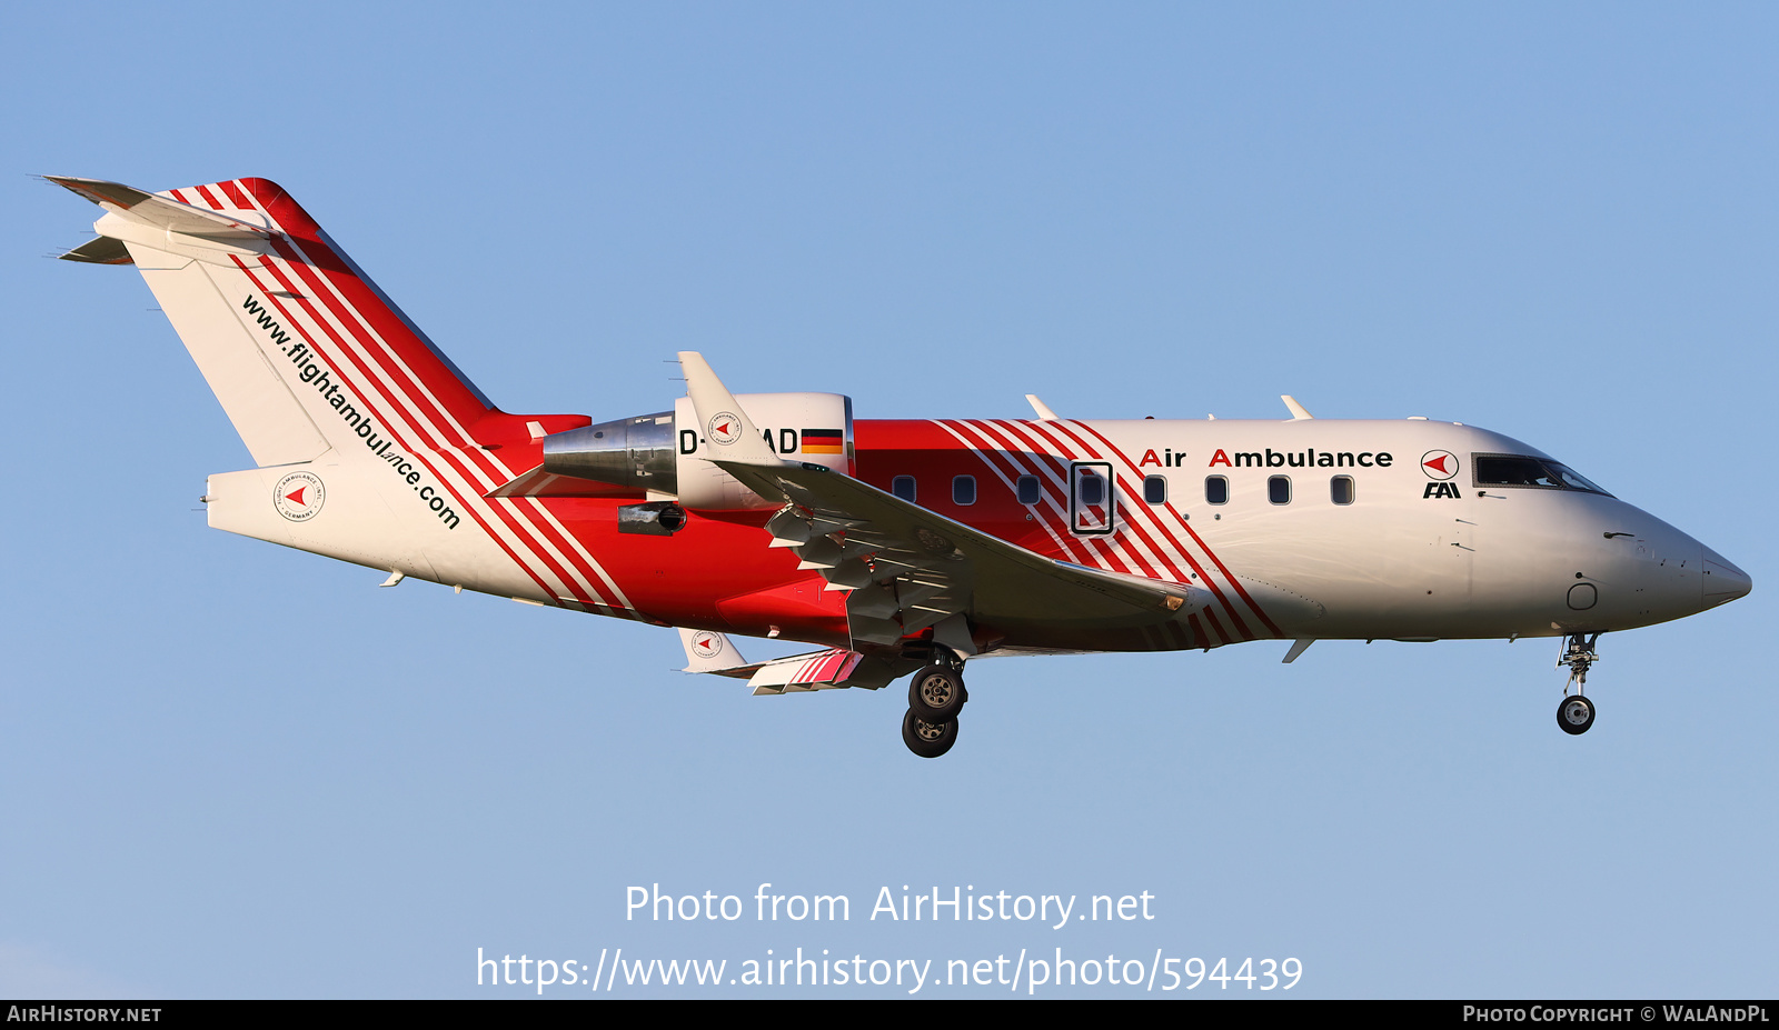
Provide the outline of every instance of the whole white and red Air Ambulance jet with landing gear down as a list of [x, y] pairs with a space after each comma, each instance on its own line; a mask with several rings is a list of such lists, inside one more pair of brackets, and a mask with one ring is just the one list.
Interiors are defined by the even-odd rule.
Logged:
[[[672, 411], [495, 407], [265, 180], [100, 205], [62, 254], [133, 263], [258, 468], [210, 525], [404, 576], [680, 626], [754, 694], [914, 674], [902, 738], [957, 738], [964, 660], [1320, 639], [1562, 637], [1585, 733], [1594, 642], [1751, 580], [1507, 436], [1425, 418], [854, 420], [731, 395], [680, 354]], [[745, 664], [726, 633], [824, 649]]]

